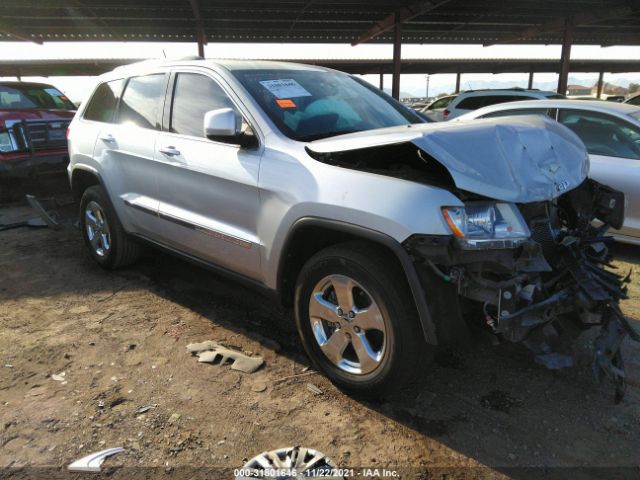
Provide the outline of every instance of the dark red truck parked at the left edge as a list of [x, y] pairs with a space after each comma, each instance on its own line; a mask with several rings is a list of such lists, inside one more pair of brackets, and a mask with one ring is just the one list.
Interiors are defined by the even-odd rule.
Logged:
[[0, 178], [64, 171], [75, 110], [51, 85], [0, 82]]

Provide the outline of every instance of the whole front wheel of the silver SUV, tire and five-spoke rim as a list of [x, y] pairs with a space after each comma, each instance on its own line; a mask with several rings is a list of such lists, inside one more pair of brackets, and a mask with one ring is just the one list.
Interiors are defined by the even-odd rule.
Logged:
[[309, 259], [298, 276], [295, 314], [318, 370], [356, 394], [379, 398], [406, 386], [431, 354], [400, 266], [366, 243]]

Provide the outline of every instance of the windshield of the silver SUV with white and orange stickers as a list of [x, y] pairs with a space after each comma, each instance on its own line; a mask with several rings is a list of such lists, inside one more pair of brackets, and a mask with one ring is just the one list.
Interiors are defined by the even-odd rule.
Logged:
[[349, 75], [319, 70], [232, 72], [289, 138], [309, 142], [374, 128], [423, 123], [417, 114]]

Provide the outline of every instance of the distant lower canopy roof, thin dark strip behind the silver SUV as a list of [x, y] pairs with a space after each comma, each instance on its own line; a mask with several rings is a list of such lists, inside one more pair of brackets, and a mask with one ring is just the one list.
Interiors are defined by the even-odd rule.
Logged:
[[[98, 59], [47, 59], [47, 60], [0, 60], [0, 77], [14, 76], [73, 76], [100, 75], [120, 65], [143, 59], [98, 58]], [[215, 60], [214, 60], [215, 61]], [[308, 63], [342, 70], [355, 74], [391, 73], [388, 59], [287, 59], [287, 62]], [[528, 73], [558, 72], [555, 59], [538, 58], [451, 58], [405, 59], [402, 73]], [[640, 60], [571, 60], [572, 72], [640, 72]]]

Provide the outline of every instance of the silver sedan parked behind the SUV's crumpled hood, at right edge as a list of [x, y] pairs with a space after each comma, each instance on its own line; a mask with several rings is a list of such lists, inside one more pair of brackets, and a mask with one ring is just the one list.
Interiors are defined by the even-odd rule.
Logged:
[[542, 100], [492, 105], [458, 120], [545, 115], [573, 130], [589, 152], [589, 176], [624, 192], [624, 226], [618, 240], [640, 244], [640, 106], [590, 100]]

